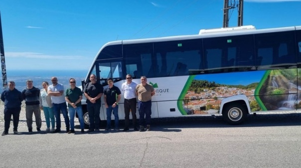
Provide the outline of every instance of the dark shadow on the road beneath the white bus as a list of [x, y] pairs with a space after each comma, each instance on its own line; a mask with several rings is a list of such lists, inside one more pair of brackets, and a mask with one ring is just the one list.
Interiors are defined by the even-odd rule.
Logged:
[[[112, 122], [114, 123], [114, 122]], [[241, 125], [229, 125], [222, 116], [193, 116], [151, 119], [151, 131], [181, 132], [181, 128], [229, 128], [229, 127], [273, 127], [273, 126], [300, 126], [301, 113], [289, 114], [250, 114]], [[124, 121], [120, 121], [120, 129], [124, 128]], [[106, 128], [106, 121], [101, 121], [101, 129]], [[112, 124], [114, 128], [114, 124]], [[75, 123], [75, 129], [80, 129]], [[132, 129], [129, 132], [134, 131]], [[111, 131], [110, 133], [114, 133]], [[96, 133], [95, 133], [96, 134]]]

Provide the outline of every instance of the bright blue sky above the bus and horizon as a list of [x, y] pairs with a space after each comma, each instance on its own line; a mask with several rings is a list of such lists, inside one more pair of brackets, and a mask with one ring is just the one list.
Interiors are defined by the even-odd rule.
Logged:
[[[109, 41], [220, 28], [223, 4], [224, 0], [0, 0], [6, 70], [88, 71]], [[257, 29], [301, 25], [300, 8], [301, 0], [244, 0], [243, 24]], [[234, 9], [229, 26], [236, 25]]]

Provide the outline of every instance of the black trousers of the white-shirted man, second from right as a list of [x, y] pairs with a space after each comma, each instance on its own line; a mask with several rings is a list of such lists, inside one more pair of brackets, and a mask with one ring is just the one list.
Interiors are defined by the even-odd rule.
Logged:
[[132, 111], [132, 117], [133, 117], [133, 127], [136, 127], [136, 104], [137, 100], [136, 98], [133, 99], [125, 99], [124, 108], [125, 108], [125, 128], [129, 128], [130, 125], [130, 112]]

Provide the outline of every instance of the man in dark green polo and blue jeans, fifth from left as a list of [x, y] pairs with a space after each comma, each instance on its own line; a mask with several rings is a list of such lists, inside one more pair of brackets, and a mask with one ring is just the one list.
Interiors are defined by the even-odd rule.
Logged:
[[69, 108], [69, 115], [70, 115], [70, 131], [68, 134], [75, 133], [74, 131], [74, 117], [75, 117], [75, 111], [78, 115], [81, 133], [84, 133], [85, 130], [85, 123], [83, 118], [83, 110], [82, 110], [82, 91], [80, 88], [76, 87], [75, 79], [70, 78], [69, 79], [70, 88], [68, 88], [65, 92], [65, 100], [68, 103]]

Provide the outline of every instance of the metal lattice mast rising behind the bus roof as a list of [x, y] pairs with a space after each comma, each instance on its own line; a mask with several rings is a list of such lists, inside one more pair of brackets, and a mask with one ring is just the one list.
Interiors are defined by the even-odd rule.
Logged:
[[[238, 8], [238, 26], [243, 25], [243, 3], [244, 0], [224, 0], [223, 27], [229, 27], [229, 20], [235, 8]], [[229, 10], [232, 10], [229, 15]]]

